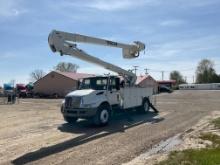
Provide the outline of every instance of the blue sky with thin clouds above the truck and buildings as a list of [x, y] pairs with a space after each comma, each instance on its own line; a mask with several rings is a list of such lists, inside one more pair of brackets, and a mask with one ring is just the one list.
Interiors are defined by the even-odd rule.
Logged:
[[110, 63], [149, 73], [179, 70], [192, 82], [197, 63], [215, 62], [220, 74], [219, 0], [0, 0], [0, 85], [12, 79], [28, 82], [30, 72], [49, 72], [60, 61], [76, 63], [79, 72], [109, 73], [93, 64], [54, 54], [47, 43], [52, 29], [97, 36], [125, 43], [139, 40], [146, 52], [133, 60], [120, 49], [82, 45]]

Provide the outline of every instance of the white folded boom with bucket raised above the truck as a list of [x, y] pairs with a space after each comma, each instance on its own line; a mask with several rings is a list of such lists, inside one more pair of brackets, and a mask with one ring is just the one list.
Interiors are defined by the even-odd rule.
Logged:
[[61, 55], [70, 55], [81, 60], [102, 66], [105, 69], [122, 75], [131, 85], [133, 85], [136, 81], [136, 75], [134, 73], [87, 54], [83, 50], [77, 48], [76, 42], [122, 48], [123, 57], [129, 59], [138, 57], [140, 51], [145, 49], [145, 44], [139, 41], [135, 41], [134, 44], [123, 44], [105, 39], [56, 30], [53, 30], [49, 34], [48, 42], [53, 52], [60, 52]]

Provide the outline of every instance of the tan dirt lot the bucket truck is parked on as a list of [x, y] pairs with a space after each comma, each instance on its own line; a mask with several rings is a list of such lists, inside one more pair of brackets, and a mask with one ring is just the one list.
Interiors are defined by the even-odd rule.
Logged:
[[107, 127], [63, 121], [61, 100], [0, 105], [0, 164], [121, 164], [220, 110], [220, 91], [157, 96], [157, 115], [118, 114]]

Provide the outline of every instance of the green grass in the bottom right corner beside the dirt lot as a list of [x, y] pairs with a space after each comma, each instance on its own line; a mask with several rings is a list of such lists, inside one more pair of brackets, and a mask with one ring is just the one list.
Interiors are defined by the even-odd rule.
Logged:
[[[220, 118], [215, 119], [213, 124], [220, 128]], [[220, 165], [220, 136], [212, 133], [200, 135], [203, 140], [209, 140], [212, 145], [203, 149], [187, 149], [173, 151], [168, 159], [158, 165]]]

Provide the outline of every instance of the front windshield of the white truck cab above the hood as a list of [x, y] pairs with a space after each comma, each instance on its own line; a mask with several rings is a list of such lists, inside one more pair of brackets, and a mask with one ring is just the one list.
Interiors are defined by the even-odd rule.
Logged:
[[107, 77], [92, 77], [83, 79], [79, 89], [106, 90]]

